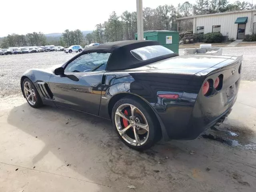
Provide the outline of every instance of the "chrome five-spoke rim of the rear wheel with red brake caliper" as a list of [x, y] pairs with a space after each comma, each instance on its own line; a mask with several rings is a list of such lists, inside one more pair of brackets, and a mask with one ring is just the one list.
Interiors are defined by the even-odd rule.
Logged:
[[116, 109], [115, 124], [120, 136], [129, 144], [141, 146], [149, 135], [144, 114], [131, 104], [122, 104]]

